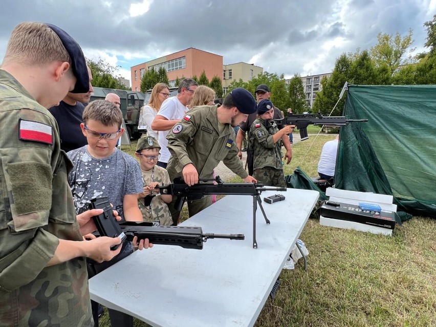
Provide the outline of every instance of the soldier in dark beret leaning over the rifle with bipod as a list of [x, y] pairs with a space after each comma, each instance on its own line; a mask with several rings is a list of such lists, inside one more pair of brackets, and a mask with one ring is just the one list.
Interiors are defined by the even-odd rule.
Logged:
[[[188, 185], [199, 178], [211, 179], [213, 169], [223, 163], [247, 183], [257, 182], [248, 176], [237, 157], [233, 127], [245, 121], [256, 111], [256, 102], [250, 92], [237, 88], [224, 99], [222, 106], [204, 105], [192, 108], [168, 134], [171, 158], [168, 173], [171, 180], [183, 177]], [[174, 208], [176, 197], [169, 205], [173, 225], [179, 222], [180, 211]], [[189, 216], [212, 204], [210, 195], [188, 203]]]

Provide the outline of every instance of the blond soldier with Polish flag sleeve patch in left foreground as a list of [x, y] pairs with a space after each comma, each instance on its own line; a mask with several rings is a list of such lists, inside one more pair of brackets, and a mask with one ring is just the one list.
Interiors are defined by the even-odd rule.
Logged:
[[93, 323], [83, 256], [111, 259], [120, 239], [83, 241], [102, 210], [76, 219], [72, 164], [47, 110], [88, 88], [85, 58], [66, 32], [42, 23], [14, 29], [0, 67], [0, 325]]

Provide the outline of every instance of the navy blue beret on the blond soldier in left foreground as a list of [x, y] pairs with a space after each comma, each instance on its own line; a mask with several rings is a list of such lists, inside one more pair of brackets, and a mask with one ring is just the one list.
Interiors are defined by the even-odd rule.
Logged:
[[86, 68], [85, 56], [83, 55], [82, 49], [80, 49], [80, 46], [74, 38], [68, 35], [66, 31], [52, 24], [44, 24], [50, 27], [53, 32], [59, 36], [63, 46], [71, 57], [71, 68], [77, 79], [74, 90], [71, 91], [71, 93], [88, 93], [90, 91], [90, 77], [88, 68]]

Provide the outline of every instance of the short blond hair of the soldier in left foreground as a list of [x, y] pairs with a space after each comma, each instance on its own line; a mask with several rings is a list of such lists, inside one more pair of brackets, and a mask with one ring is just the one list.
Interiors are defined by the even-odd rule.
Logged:
[[71, 57], [57, 34], [43, 23], [18, 24], [12, 31], [3, 64], [48, 64], [64, 61], [71, 65]]

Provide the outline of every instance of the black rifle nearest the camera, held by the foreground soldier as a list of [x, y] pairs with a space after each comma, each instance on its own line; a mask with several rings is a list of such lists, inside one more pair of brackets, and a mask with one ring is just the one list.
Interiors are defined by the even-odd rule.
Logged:
[[[103, 213], [93, 220], [101, 236], [119, 237], [121, 243], [148, 238], [153, 244], [177, 245], [185, 249], [203, 249], [203, 243], [209, 238], [245, 239], [244, 234], [203, 233], [201, 227], [190, 226], [152, 226], [152, 223], [124, 222], [118, 223], [107, 197], [92, 199], [91, 209], [103, 209]], [[120, 244], [111, 247], [116, 250]]]

